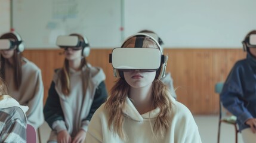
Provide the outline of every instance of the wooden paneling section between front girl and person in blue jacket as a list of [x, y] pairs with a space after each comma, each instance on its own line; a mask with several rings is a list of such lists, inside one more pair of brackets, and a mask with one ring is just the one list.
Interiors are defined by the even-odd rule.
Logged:
[[237, 60], [245, 58], [241, 49], [165, 49], [169, 55], [177, 100], [194, 114], [218, 113], [218, 95], [214, 85], [226, 80]]

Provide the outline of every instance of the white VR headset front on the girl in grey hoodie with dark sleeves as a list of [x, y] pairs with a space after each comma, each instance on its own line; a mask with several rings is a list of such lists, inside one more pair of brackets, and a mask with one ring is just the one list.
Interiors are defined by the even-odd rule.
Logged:
[[58, 36], [57, 45], [60, 48], [72, 48], [73, 50], [82, 49], [78, 36]]

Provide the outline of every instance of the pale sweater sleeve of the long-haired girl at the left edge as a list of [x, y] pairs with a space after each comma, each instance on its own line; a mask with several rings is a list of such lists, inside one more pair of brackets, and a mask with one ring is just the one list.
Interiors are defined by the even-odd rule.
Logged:
[[44, 123], [44, 114], [42, 110], [44, 108], [43, 98], [44, 98], [44, 85], [42, 82], [41, 70], [35, 72], [35, 85], [33, 98], [29, 100], [27, 106], [29, 110], [27, 111], [27, 121], [34, 128], [39, 128], [39, 126]]

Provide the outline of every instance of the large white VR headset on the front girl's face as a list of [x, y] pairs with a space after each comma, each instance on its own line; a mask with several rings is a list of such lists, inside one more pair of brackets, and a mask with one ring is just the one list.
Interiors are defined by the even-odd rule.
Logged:
[[156, 71], [161, 66], [158, 48], [115, 48], [110, 61], [114, 69]]

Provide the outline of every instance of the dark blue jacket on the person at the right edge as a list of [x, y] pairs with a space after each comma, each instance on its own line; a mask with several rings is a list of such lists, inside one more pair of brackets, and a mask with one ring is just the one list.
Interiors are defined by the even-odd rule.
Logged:
[[239, 130], [249, 128], [246, 120], [256, 117], [256, 59], [251, 54], [236, 62], [224, 83], [220, 99], [237, 117]]

